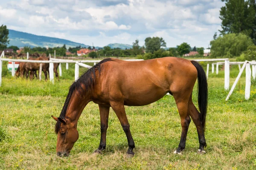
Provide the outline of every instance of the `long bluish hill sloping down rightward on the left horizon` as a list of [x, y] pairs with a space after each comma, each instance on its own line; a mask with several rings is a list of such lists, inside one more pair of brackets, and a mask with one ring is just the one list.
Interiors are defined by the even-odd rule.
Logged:
[[[66, 44], [66, 47], [77, 47], [81, 45], [81, 47], [88, 47], [89, 45], [84, 45], [77, 42], [72, 42], [69, 40], [64, 40], [60, 38], [52, 38], [46, 36], [38, 36], [34, 34], [29, 34], [25, 32], [15, 31], [9, 29], [9, 46], [15, 45], [17, 47], [30, 46], [33, 47], [62, 47]], [[99, 47], [96, 47], [99, 48]]]

